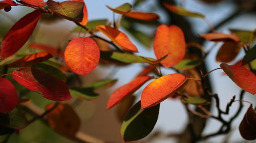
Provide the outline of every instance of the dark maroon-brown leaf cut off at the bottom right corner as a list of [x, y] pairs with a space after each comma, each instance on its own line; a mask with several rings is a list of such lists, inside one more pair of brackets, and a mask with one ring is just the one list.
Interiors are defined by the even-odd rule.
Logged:
[[242, 137], [246, 140], [256, 139], [256, 111], [252, 105], [247, 109], [242, 122], [239, 125], [239, 131]]

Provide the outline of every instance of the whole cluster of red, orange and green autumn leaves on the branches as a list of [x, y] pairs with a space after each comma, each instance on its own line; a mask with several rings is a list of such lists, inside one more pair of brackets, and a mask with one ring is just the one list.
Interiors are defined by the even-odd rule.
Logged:
[[[67, 81], [65, 72], [82, 76], [88, 75], [98, 66], [100, 60], [102, 64], [148, 64], [136, 78], [116, 89], [107, 103], [106, 108], [112, 108], [122, 100], [132, 96], [143, 84], [151, 80], [151, 83], [148, 83], [143, 89], [141, 100], [130, 109], [123, 119], [121, 135], [126, 141], [141, 139], [153, 130], [158, 119], [160, 103], [169, 97], [179, 97], [186, 106], [188, 104], [196, 106], [209, 104], [206, 96], [210, 96], [210, 94], [204, 83], [208, 73], [200, 74], [196, 71], [196, 67], [203, 63], [209, 51], [206, 52], [203, 46], [198, 43], [186, 43], [184, 33], [179, 26], [157, 25], [154, 39], [156, 60], [134, 54], [134, 52], [139, 52], [138, 48], [125, 33], [119, 30], [119, 26], [122, 25], [122, 17], [127, 18], [124, 20], [133, 19], [143, 24], [143, 21], [157, 20], [159, 18], [157, 14], [133, 11], [133, 7], [127, 3], [117, 8], [108, 6], [111, 11], [121, 15], [117, 22], [114, 21], [112, 27], [104, 19], [88, 22], [87, 8], [82, 0], [61, 3], [52, 0], [48, 0], [47, 3], [42, 0], [17, 2], [19, 4], [11, 0], [0, 1], [0, 9], [10, 11], [11, 7], [22, 5], [36, 10], [18, 20], [1, 41], [1, 135], [22, 130], [29, 123], [24, 113], [19, 109], [19, 106], [23, 106], [19, 103], [22, 99], [18, 98], [12, 83], [18, 82], [31, 91], [40, 92], [44, 98], [58, 101], [55, 105], [50, 104], [46, 107], [45, 120], [59, 134], [74, 138], [75, 133], [79, 130], [79, 118], [70, 105], [59, 103], [59, 101], [70, 100], [72, 97], [87, 100], [95, 99], [98, 96], [95, 93], [96, 89], [110, 87], [116, 80], [105, 79], [93, 84], [70, 88], [65, 83]], [[200, 13], [190, 12], [182, 7], [165, 3], [163, 5], [168, 10], [182, 16], [205, 18]], [[49, 45], [31, 43], [30, 48], [40, 49], [43, 52], [32, 53], [21, 58], [20, 55], [14, 55], [31, 37], [44, 13], [57, 14], [73, 21], [78, 25], [74, 32], [89, 33], [90, 37], [73, 38], [65, 51]], [[123, 25], [125, 27], [125, 23]], [[127, 26], [126, 23], [126, 28], [129, 29], [131, 26], [129, 24]], [[101, 32], [111, 41], [95, 35], [95, 32]], [[132, 32], [138, 34], [136, 30]], [[212, 32], [201, 34], [200, 37], [208, 41], [223, 42], [216, 57], [217, 62], [223, 62], [220, 64], [220, 68], [242, 90], [255, 94], [256, 46], [253, 47], [256, 39], [255, 31], [230, 30], [230, 32], [231, 34]], [[136, 37], [136, 34], [132, 35]], [[103, 40], [116, 49], [101, 50], [95, 41], [96, 39]], [[190, 47], [201, 49], [204, 56], [188, 53], [187, 48]], [[236, 58], [241, 48], [246, 52], [241, 62], [235, 65], [226, 64]], [[52, 60], [53, 56], [60, 61], [63, 59], [66, 66]], [[18, 60], [13, 61], [13, 58]], [[162, 75], [161, 68], [174, 69], [177, 73]], [[11, 73], [7, 73], [10, 70]], [[150, 73], [154, 73], [154, 76], [151, 76]], [[14, 80], [11, 82], [5, 78], [7, 75], [11, 75]], [[255, 116], [256, 112], [250, 106], [240, 125], [240, 132], [245, 139], [256, 139]]]

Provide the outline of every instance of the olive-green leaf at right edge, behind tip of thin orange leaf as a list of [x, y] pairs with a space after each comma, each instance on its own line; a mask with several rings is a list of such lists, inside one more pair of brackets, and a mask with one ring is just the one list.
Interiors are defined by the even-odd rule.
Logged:
[[245, 30], [236, 30], [230, 29], [231, 33], [236, 34], [242, 43], [250, 43], [256, 40], [256, 31], [245, 31]]

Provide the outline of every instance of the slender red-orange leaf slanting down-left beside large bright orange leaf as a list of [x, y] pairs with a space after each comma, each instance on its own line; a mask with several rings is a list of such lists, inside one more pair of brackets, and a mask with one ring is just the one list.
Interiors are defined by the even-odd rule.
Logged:
[[140, 76], [117, 88], [110, 96], [106, 109], [110, 109], [127, 96], [136, 92], [146, 81], [152, 79], [150, 76]]

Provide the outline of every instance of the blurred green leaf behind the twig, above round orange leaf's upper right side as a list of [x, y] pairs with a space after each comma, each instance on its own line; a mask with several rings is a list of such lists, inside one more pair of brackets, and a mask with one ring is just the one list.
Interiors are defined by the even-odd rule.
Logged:
[[[110, 25], [110, 22], [108, 21], [108, 19], [91, 20], [91, 21], [88, 21], [88, 23], [86, 24], [86, 27], [88, 28], [88, 30], [96, 31], [95, 27], [98, 25]], [[80, 26], [75, 27], [74, 32], [87, 33], [87, 31], [81, 28]]]

